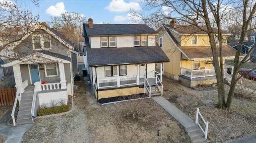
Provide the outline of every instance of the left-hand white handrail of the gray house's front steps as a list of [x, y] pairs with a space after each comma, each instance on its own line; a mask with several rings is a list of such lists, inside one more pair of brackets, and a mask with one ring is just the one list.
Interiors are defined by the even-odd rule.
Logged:
[[24, 82], [22, 82], [22, 86], [18, 86], [17, 90], [16, 90], [16, 97], [15, 97], [15, 100], [14, 100], [14, 105], [12, 107], [12, 114], [11, 114], [12, 122], [13, 122], [14, 126], [16, 125], [14, 114], [15, 114], [15, 109], [16, 109], [16, 105], [17, 105], [17, 102], [18, 102], [18, 98], [19, 98], [19, 104], [20, 104], [20, 102], [21, 102], [21, 90], [23, 90], [23, 92], [24, 92], [24, 89], [27, 86], [28, 86], [28, 80], [25, 80]]

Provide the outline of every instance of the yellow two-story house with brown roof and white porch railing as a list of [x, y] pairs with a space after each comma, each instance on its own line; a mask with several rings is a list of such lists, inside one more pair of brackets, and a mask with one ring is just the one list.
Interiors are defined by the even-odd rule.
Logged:
[[[156, 31], [160, 33], [157, 37], [158, 45], [170, 59], [170, 62], [164, 63], [163, 74], [188, 87], [216, 82], [212, 51], [206, 32], [194, 25], [176, 25], [176, 20], [172, 20], [170, 25], [162, 25]], [[223, 32], [224, 39], [229, 35]], [[216, 44], [219, 44], [217, 38]], [[226, 40], [222, 45], [223, 61], [233, 59], [236, 50], [227, 45]], [[156, 68], [160, 69], [160, 65], [156, 65]], [[224, 69], [226, 76], [232, 74], [232, 66], [225, 65]], [[230, 79], [227, 77], [227, 81]]]

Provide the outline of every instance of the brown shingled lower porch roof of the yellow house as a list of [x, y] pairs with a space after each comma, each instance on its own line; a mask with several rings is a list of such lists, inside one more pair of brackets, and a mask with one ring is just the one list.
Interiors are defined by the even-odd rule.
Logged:
[[[202, 59], [202, 58], [212, 58], [212, 49], [210, 46], [179, 46], [190, 59]], [[219, 47], [217, 48], [219, 54]], [[222, 46], [222, 56], [223, 57], [234, 57], [236, 55], [236, 50], [229, 45]], [[240, 56], [243, 56], [240, 54]]]

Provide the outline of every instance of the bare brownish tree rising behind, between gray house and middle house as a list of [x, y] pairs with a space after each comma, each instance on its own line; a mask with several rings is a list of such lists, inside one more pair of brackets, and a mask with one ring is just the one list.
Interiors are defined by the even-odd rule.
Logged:
[[64, 12], [61, 16], [54, 16], [48, 22], [54, 29], [64, 35], [72, 43], [79, 44], [82, 35], [82, 25], [86, 23], [84, 15], [76, 12]]

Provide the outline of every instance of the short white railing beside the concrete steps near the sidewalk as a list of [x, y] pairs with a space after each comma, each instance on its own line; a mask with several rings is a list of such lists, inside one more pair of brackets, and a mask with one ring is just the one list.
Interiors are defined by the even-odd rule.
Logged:
[[199, 108], [196, 109], [196, 124], [200, 127], [200, 129], [204, 133], [204, 138], [207, 139], [209, 122], [204, 120], [202, 114], [199, 112]]

